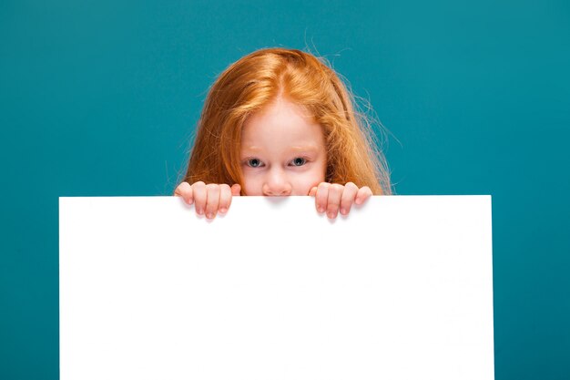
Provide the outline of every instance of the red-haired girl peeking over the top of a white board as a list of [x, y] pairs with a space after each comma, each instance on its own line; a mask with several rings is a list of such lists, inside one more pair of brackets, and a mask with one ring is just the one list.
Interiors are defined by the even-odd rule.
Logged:
[[209, 90], [184, 181], [175, 195], [213, 219], [238, 195], [315, 197], [331, 219], [390, 194], [382, 152], [350, 92], [320, 59], [261, 49]]

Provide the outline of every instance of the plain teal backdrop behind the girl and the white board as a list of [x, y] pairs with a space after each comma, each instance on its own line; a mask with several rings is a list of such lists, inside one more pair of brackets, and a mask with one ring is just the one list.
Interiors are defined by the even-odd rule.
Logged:
[[57, 197], [171, 194], [267, 46], [370, 101], [398, 194], [493, 195], [495, 378], [570, 379], [570, 3], [524, 0], [3, 0], [0, 378], [59, 375]]

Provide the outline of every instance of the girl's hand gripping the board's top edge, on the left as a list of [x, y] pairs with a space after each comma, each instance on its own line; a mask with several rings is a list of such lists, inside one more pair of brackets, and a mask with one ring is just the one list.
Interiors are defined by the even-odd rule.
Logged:
[[214, 219], [218, 212], [220, 214], [228, 212], [231, 197], [239, 196], [239, 191], [241, 187], [237, 183], [230, 188], [225, 183], [207, 185], [199, 181], [190, 185], [188, 182], [182, 182], [174, 190], [174, 195], [182, 197], [188, 204], [193, 203], [198, 215], [206, 215], [206, 218]]

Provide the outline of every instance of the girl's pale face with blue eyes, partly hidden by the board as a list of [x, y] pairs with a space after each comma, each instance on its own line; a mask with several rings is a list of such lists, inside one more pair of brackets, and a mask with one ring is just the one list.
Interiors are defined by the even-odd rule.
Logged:
[[327, 151], [319, 124], [285, 98], [250, 116], [241, 134], [246, 195], [309, 195], [325, 180]]

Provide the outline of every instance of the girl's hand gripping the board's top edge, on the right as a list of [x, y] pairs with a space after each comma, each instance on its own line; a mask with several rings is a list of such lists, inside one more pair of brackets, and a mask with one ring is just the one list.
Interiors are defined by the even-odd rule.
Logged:
[[339, 210], [342, 215], [346, 215], [351, 211], [352, 203], [360, 205], [368, 200], [372, 196], [372, 190], [368, 186], [359, 189], [352, 182], [344, 186], [339, 183], [321, 182], [309, 191], [309, 195], [315, 197], [317, 211], [326, 211], [329, 219], [334, 219]]

